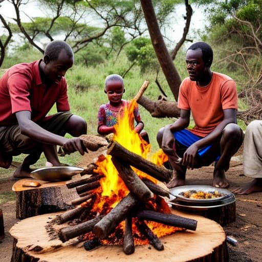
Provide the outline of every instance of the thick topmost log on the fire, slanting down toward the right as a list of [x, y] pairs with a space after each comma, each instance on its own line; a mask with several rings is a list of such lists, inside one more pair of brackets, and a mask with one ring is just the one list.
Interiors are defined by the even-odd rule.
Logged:
[[107, 154], [117, 157], [123, 162], [128, 163], [130, 166], [136, 167], [159, 181], [168, 182], [172, 177], [171, 170], [163, 166], [158, 166], [151, 161], [142, 158], [134, 152], [127, 150], [116, 141], [108, 147]]

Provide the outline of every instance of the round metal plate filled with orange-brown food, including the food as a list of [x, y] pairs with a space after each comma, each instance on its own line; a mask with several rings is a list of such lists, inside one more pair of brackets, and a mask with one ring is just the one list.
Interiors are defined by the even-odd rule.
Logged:
[[[189, 203], [212, 203], [227, 199], [232, 195], [227, 189], [208, 185], [186, 185], [171, 188], [170, 200]], [[176, 197], [174, 197], [176, 196]]]

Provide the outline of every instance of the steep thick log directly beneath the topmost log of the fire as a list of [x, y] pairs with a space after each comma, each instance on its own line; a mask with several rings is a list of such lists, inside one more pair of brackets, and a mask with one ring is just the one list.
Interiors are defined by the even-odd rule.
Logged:
[[145, 203], [154, 198], [154, 194], [148, 189], [129, 165], [121, 163], [119, 159], [115, 157], [112, 157], [112, 162], [129, 191], [132, 192], [141, 202]]

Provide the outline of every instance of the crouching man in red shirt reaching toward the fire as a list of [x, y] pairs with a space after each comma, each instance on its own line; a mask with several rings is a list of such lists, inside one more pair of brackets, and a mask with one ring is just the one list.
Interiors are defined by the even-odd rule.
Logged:
[[[13, 65], [0, 79], [0, 167], [8, 168], [12, 156], [28, 154], [14, 177], [29, 177], [42, 152], [52, 165], [61, 165], [57, 145], [68, 154], [84, 154], [78, 137], [86, 134], [87, 124], [70, 112], [64, 78], [73, 64], [68, 43], [55, 40], [42, 59]], [[54, 104], [58, 113], [47, 116]], [[66, 133], [73, 138], [64, 138]]]

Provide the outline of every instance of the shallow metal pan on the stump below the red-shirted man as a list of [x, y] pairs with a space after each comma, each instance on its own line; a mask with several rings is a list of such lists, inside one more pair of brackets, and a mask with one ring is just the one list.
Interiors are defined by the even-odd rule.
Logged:
[[76, 166], [52, 166], [38, 168], [30, 173], [34, 179], [43, 181], [69, 180], [84, 169]]

